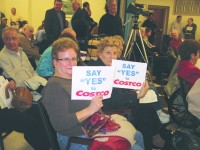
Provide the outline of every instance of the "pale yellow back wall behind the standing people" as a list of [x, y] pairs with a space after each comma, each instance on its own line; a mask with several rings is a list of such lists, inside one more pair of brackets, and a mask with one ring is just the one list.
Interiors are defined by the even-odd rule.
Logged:
[[[88, 1], [91, 5], [92, 18], [99, 22], [100, 17], [105, 13], [104, 5], [105, 0], [82, 0], [82, 2]], [[10, 17], [10, 8], [16, 7], [17, 13], [19, 13], [25, 20], [28, 20], [37, 30], [37, 27], [44, 19], [45, 11], [53, 7], [54, 0], [1, 0], [0, 11], [4, 12], [6, 16]], [[162, 5], [170, 6], [170, 14], [168, 20], [168, 32], [171, 23], [175, 20], [176, 15], [173, 14], [174, 0], [137, 0], [140, 4], [150, 5]], [[187, 19], [191, 16], [183, 16], [182, 25], [186, 25]], [[200, 25], [200, 16], [193, 16], [194, 22]], [[145, 17], [141, 16], [142, 22]], [[197, 27], [196, 39], [200, 39], [200, 27]]]

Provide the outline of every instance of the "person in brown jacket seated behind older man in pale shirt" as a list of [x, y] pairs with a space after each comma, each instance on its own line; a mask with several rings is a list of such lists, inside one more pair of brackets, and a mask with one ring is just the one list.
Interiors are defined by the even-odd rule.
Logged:
[[28, 56], [33, 68], [36, 68], [36, 62], [40, 59], [39, 49], [34, 46], [31, 42], [33, 36], [34, 28], [31, 25], [24, 25], [22, 31], [19, 33], [20, 43], [19, 46], [23, 48], [23, 51]]

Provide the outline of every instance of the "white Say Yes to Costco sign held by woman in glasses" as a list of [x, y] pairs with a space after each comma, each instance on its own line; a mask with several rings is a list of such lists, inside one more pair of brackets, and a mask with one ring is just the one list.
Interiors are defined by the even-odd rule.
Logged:
[[111, 97], [114, 68], [111, 66], [74, 66], [72, 100], [91, 100], [96, 95]]

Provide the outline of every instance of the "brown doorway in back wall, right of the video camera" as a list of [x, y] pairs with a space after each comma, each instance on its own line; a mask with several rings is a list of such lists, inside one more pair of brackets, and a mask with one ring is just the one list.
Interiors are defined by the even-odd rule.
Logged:
[[169, 9], [169, 6], [148, 6], [148, 10], [154, 14], [153, 17], [157, 25], [154, 44], [159, 48], [162, 47], [163, 35], [167, 34]]

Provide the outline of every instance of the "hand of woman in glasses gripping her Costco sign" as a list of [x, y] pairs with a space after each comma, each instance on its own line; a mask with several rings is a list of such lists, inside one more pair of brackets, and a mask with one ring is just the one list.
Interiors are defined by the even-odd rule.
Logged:
[[101, 109], [101, 107], [103, 107], [103, 96], [102, 95], [97, 95], [95, 96], [91, 102], [90, 102], [90, 105], [88, 106], [88, 109], [92, 114], [94, 114], [95, 112], [99, 111], [99, 109]]

